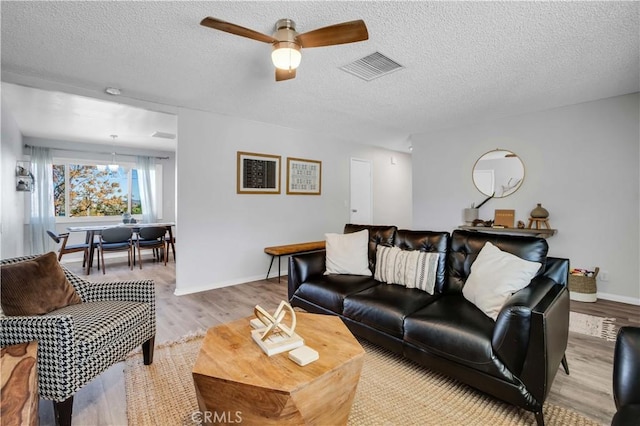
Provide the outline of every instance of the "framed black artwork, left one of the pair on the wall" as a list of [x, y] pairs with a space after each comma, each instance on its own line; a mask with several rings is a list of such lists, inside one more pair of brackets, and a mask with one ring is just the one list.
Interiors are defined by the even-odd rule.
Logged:
[[280, 156], [238, 151], [238, 194], [279, 194]]

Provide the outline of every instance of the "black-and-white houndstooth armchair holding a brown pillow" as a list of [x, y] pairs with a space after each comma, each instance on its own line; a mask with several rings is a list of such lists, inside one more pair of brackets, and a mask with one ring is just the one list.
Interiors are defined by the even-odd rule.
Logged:
[[0, 313], [0, 345], [38, 341], [40, 397], [53, 401], [57, 424], [71, 425], [73, 395], [81, 387], [138, 345], [145, 365], [152, 363], [155, 289], [152, 280], [92, 283], [62, 268], [83, 303], [37, 316]]

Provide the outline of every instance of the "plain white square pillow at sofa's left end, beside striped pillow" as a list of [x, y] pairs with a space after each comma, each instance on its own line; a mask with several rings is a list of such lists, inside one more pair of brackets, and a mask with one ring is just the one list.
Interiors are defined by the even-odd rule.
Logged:
[[328, 274], [371, 276], [369, 269], [369, 230], [351, 234], [325, 234]]

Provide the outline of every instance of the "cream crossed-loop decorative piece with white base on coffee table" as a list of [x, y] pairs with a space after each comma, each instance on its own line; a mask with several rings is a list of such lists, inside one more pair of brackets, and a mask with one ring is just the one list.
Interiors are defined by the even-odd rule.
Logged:
[[[273, 315], [269, 314], [259, 305], [254, 308], [256, 318], [251, 320], [251, 337], [267, 355], [275, 355], [290, 351], [304, 345], [304, 340], [295, 333], [296, 313], [285, 301], [280, 302]], [[289, 314], [290, 325], [283, 323]], [[256, 319], [262, 323], [262, 327]]]

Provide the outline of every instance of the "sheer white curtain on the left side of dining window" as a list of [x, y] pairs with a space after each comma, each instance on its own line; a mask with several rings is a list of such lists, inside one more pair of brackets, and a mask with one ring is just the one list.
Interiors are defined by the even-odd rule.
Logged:
[[31, 192], [31, 253], [40, 254], [56, 250], [56, 244], [47, 235], [55, 232], [53, 208], [53, 160], [49, 148], [31, 147], [31, 172], [34, 183]]

